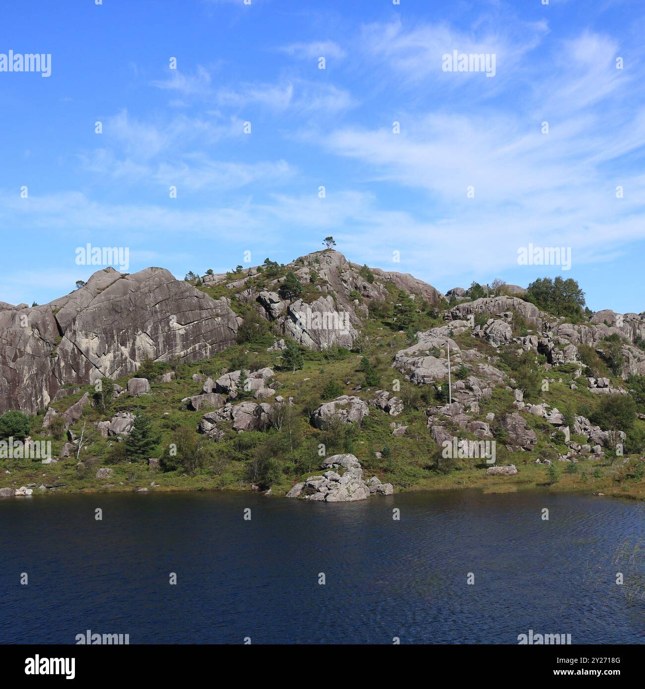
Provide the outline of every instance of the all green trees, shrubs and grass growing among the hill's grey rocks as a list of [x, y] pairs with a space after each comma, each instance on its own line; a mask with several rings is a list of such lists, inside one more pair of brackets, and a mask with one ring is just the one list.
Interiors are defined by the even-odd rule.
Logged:
[[[34, 440], [51, 440], [54, 456], [59, 456], [67, 440], [66, 420], [60, 412], [77, 402], [85, 392], [90, 393], [94, 402], [83, 408], [83, 416], [70, 428], [72, 437], [79, 438], [81, 432], [84, 433], [78, 457], [61, 458], [52, 466], [34, 460], [0, 459], [0, 469], [11, 471], [12, 482], [61, 484], [60, 489], [67, 491], [105, 490], [95, 474], [99, 467], [110, 466], [114, 471], [110, 477], [114, 487], [110, 490], [115, 491], [150, 486], [154, 481], [159, 484], [155, 485], [155, 490], [159, 491], [248, 490], [250, 484], [254, 484], [260, 489], [271, 488], [274, 495], [284, 495], [295, 482], [319, 473], [319, 448], [324, 446], [327, 456], [354, 453], [366, 476], [376, 475], [391, 482], [396, 491], [466, 486], [497, 492], [543, 486], [548, 491], [584, 490], [645, 499], [645, 462], [641, 461], [645, 451], [645, 422], [637, 415], [639, 411], [645, 413], [645, 377], [628, 378], [625, 385], [629, 395], [594, 395], [586, 387], [585, 376], [609, 378], [612, 387], [623, 386], [619, 378], [624, 368], [619, 338], [606, 338], [597, 349], [579, 345], [583, 377], [576, 378], [579, 364], [548, 368], [544, 356], [534, 351], [518, 356], [517, 347], [496, 348], [485, 338], [473, 337], [470, 331], [450, 331], [459, 347], [475, 350], [477, 355], [464, 358], [466, 363], [453, 369], [453, 396], [455, 383], [464, 381], [468, 387], [468, 377], [479, 376], [480, 364], [488, 363], [514, 381], [496, 384], [490, 397], [484, 395], [479, 400], [479, 411], [469, 413], [472, 420], [490, 424], [497, 441], [497, 464], [512, 463], [519, 469], [513, 476], [487, 475], [486, 464], [480, 460], [443, 457], [440, 444], [433, 440], [428, 426], [428, 407], [445, 404], [447, 379], [417, 386], [406, 380], [406, 372], [392, 367], [395, 353], [417, 342], [417, 332], [445, 325], [446, 302], [430, 305], [421, 296], [410, 296], [392, 282], [381, 280], [364, 266], [359, 269], [361, 278], [368, 284], [378, 280], [378, 290], [368, 289], [360, 280], [356, 283], [357, 289], [348, 286], [348, 298], [361, 304], [361, 309], [357, 309], [362, 319], [359, 338], [353, 342], [351, 351], [337, 345], [315, 351], [286, 337], [284, 331], [260, 315], [256, 302], [247, 303], [242, 296], [246, 289], [270, 289], [280, 291], [285, 300], [313, 300], [321, 295], [321, 290], [328, 291], [320, 265], [315, 258], [303, 260], [292, 271], [292, 266], [285, 267], [267, 258], [254, 275], [248, 275], [248, 271], [237, 266], [230, 271], [228, 280], [208, 286], [199, 285], [199, 276], [190, 271], [186, 278], [192, 284], [214, 298], [230, 299], [231, 308], [243, 318], [235, 345], [197, 362], [142, 362], [139, 371], [131, 375], [147, 378], [151, 389], [150, 395], [139, 398], [132, 398], [127, 393], [115, 398], [115, 384], [126, 387], [127, 378], [115, 381], [103, 378], [81, 389], [70, 386], [68, 395], [51, 403], [59, 415], [51, 420], [47, 430], [41, 428], [44, 410], [31, 418], [17, 412], [3, 415], [0, 433], [14, 438], [31, 435]], [[319, 272], [310, 270], [309, 278], [302, 278], [301, 282], [294, 272], [300, 271], [301, 266], [316, 267]], [[212, 270], [206, 274], [212, 274]], [[577, 287], [575, 282], [574, 287]], [[584, 317], [584, 295], [574, 287], [561, 278], [553, 282], [537, 280], [528, 298], [557, 316], [575, 320]], [[493, 291], [504, 294], [504, 285], [494, 283]], [[370, 294], [377, 293], [386, 295], [385, 299], [370, 298]], [[333, 291], [328, 294], [341, 302]], [[485, 296], [486, 289], [474, 282], [469, 294], [473, 299]], [[478, 313], [475, 322], [485, 325], [488, 318], [490, 316]], [[515, 336], [533, 332], [532, 325], [518, 311], [513, 311], [510, 323]], [[276, 338], [285, 338], [284, 351], [268, 351]], [[419, 352], [419, 356], [426, 355], [445, 358], [445, 351], [428, 347], [427, 351]], [[264, 400], [272, 404], [268, 429], [237, 433], [230, 421], [218, 421], [217, 440], [197, 433], [201, 418], [212, 408], [192, 411], [182, 400], [201, 392], [204, 377], [216, 380], [223, 373], [243, 371], [237, 397], [232, 403], [256, 401], [254, 390], [243, 390], [246, 371], [264, 367], [274, 371], [266, 384], [284, 398], [279, 403], [275, 398]], [[161, 382], [161, 373], [170, 370], [175, 372], [175, 379]], [[194, 380], [195, 374], [199, 378]], [[513, 390], [506, 389], [506, 382], [509, 387], [520, 389], [526, 402], [545, 402], [550, 407], [557, 407], [564, 424], [569, 426], [571, 442], [567, 444], [564, 432], [544, 418], [519, 409]], [[572, 389], [574, 382], [576, 385]], [[343, 393], [368, 402], [375, 389], [388, 390], [400, 398], [404, 409], [397, 415], [396, 422], [407, 426], [403, 435], [393, 435], [393, 416], [373, 406], [361, 424], [331, 420], [323, 429], [312, 425], [310, 416], [322, 402]], [[132, 433], [121, 442], [114, 436], [101, 436], [96, 426], [97, 422], [110, 420], [119, 412], [135, 414]], [[486, 418], [490, 412], [495, 414], [492, 421]], [[535, 431], [537, 443], [533, 451], [519, 451], [513, 446], [508, 431], [500, 424], [506, 413], [520, 413], [528, 427]], [[586, 436], [575, 435], [574, 431], [575, 416], [581, 414], [604, 430], [615, 434], [624, 431], [624, 457], [618, 458], [613, 448], [606, 446], [604, 457], [581, 455], [579, 462], [560, 464], [559, 455], [566, 453], [571, 444], [587, 442]], [[475, 435], [457, 422], [442, 418], [441, 425], [453, 435], [475, 440]], [[147, 460], [151, 457], [159, 457], [159, 470], [148, 466]], [[549, 459], [552, 464], [549, 467], [535, 464], [536, 457]]]

